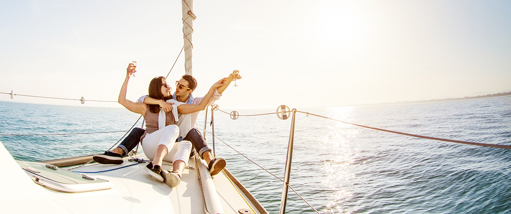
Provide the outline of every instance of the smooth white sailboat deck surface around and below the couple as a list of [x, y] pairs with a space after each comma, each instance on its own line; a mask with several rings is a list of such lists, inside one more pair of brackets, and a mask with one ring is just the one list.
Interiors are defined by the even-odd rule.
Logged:
[[[194, 170], [185, 169], [181, 183], [175, 188], [151, 178], [143, 169], [147, 163], [140, 163], [109, 172], [86, 174], [112, 182], [111, 189], [61, 193], [34, 183], [3, 145], [0, 146], [0, 157], [9, 159], [4, 170], [10, 172], [0, 179], [0, 205], [9, 207], [4, 210], [7, 213], [205, 213], [193, 158], [189, 166]], [[143, 154], [136, 157], [147, 160]], [[73, 171], [99, 172], [134, 163], [127, 159], [121, 165], [93, 163]], [[171, 170], [172, 165], [164, 162], [162, 168]], [[213, 183], [224, 213], [240, 213], [240, 209], [260, 213], [225, 172], [214, 176]]]

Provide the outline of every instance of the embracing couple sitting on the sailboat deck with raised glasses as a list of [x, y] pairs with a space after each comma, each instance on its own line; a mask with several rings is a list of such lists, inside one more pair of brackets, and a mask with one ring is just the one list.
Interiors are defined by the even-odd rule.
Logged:
[[[145, 168], [146, 171], [170, 187], [180, 183], [181, 174], [195, 150], [208, 163], [212, 176], [220, 173], [225, 167], [225, 159], [215, 158], [211, 154], [211, 149], [197, 130], [197, 116], [200, 110], [212, 105], [222, 96], [231, 81], [241, 79], [241, 76], [233, 73], [219, 80], [201, 98], [194, 98], [192, 95], [197, 82], [190, 75], [184, 75], [176, 81], [174, 94], [164, 77], [155, 77], [149, 83], [149, 96], [143, 96], [135, 103], [126, 99], [128, 81], [135, 72], [135, 66], [130, 63], [119, 93], [119, 103], [132, 112], [142, 114], [146, 120], [146, 130], [134, 128], [117, 148], [94, 155], [93, 159], [102, 164], [121, 164], [122, 157], [140, 141], [145, 155], [152, 160], [147, 169]], [[161, 170], [164, 160], [172, 162], [172, 172]]]

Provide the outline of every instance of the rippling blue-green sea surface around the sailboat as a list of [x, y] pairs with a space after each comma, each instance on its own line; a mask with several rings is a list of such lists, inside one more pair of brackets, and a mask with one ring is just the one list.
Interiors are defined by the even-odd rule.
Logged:
[[[292, 107], [291, 107], [292, 108]], [[233, 109], [220, 109], [230, 112]], [[276, 108], [275, 108], [276, 109]], [[367, 129], [511, 145], [511, 96], [449, 102], [297, 109], [290, 185], [320, 213], [509, 213], [511, 151]], [[214, 111], [216, 155], [278, 213], [291, 119], [275, 110]], [[309, 112], [329, 120], [301, 113]], [[268, 115], [245, 116], [273, 113]], [[212, 144], [208, 111], [206, 137]], [[17, 160], [100, 153], [138, 115], [123, 108], [0, 102], [0, 141]], [[204, 112], [199, 115], [204, 127]], [[5, 134], [77, 135], [6, 136]], [[227, 146], [228, 145], [228, 146]], [[232, 148], [231, 148], [232, 147]], [[243, 154], [257, 165], [253, 164]], [[291, 189], [288, 213], [316, 213]]]

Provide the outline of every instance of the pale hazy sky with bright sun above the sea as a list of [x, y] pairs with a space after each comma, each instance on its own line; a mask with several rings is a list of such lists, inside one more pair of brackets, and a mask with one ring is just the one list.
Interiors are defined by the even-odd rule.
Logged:
[[[184, 74], [181, 1], [0, 1], [0, 101], [122, 107]], [[195, 96], [221, 109], [332, 107], [511, 90], [511, 1], [195, 0]], [[173, 84], [171, 84], [173, 85]], [[175, 88], [175, 87], [173, 87]], [[89, 101], [87, 101], [89, 100]]]

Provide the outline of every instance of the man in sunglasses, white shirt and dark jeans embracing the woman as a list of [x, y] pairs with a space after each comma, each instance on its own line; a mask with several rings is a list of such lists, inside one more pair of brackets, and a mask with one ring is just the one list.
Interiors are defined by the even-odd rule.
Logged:
[[[230, 82], [235, 79], [241, 79], [236, 70], [229, 77], [224, 78], [224, 86], [215, 89], [215, 93], [212, 96], [210, 103], [207, 106], [213, 105], [215, 101], [220, 99], [222, 92], [229, 86]], [[176, 91], [172, 95], [173, 100], [179, 103], [185, 104], [198, 104], [204, 97], [194, 98], [192, 92], [197, 87], [197, 81], [190, 75], [183, 75], [179, 81], [176, 81]], [[138, 99], [138, 102], [144, 102], [145, 104], [159, 105], [164, 111], [172, 111], [173, 103], [168, 103], [162, 100], [152, 99], [148, 96], [143, 96]], [[180, 132], [187, 133], [185, 136], [180, 136], [177, 141], [189, 140], [192, 142], [193, 148], [190, 157], [193, 156], [194, 151], [197, 150], [198, 154], [202, 159], [208, 163], [208, 170], [212, 176], [220, 173], [226, 165], [224, 158], [215, 158], [211, 154], [211, 149], [207, 147], [206, 141], [202, 137], [202, 134], [197, 130], [197, 116], [199, 111], [196, 112], [179, 112], [178, 126], [181, 121], [190, 120], [190, 130], [180, 130]], [[189, 119], [188, 119], [189, 118]], [[179, 126], [182, 129], [181, 126]], [[184, 128], [188, 129], [188, 128]], [[103, 154], [94, 155], [93, 159], [102, 164], [121, 164], [123, 163], [122, 157], [131, 151], [140, 141], [140, 137], [144, 134], [144, 129], [134, 128], [131, 133], [126, 137], [117, 148], [112, 151], [106, 151]], [[184, 135], [184, 134], [182, 134]]]

